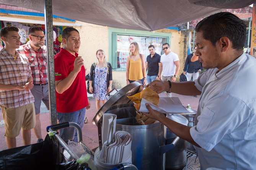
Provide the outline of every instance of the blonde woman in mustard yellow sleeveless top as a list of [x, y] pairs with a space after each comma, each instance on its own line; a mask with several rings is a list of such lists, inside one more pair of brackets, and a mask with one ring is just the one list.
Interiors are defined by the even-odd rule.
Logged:
[[139, 53], [137, 42], [130, 43], [130, 53], [126, 60], [126, 84], [141, 80], [146, 85], [146, 63], [144, 55]]

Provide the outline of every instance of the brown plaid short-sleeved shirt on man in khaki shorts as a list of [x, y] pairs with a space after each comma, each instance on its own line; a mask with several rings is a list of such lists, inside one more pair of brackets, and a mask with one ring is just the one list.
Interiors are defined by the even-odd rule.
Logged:
[[[31, 77], [28, 59], [16, 51], [17, 59], [4, 48], [0, 51], [0, 83], [24, 86]], [[26, 90], [0, 90], [0, 105], [3, 107], [20, 107], [34, 102], [34, 96]]]

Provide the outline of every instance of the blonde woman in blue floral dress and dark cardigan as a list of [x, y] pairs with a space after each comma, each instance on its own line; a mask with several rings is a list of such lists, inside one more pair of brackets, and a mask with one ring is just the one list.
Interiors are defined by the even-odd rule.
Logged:
[[[106, 61], [103, 50], [97, 50], [96, 57], [98, 59], [97, 63], [91, 65], [89, 90], [96, 99], [96, 109], [98, 111], [109, 98], [105, 95], [112, 90], [112, 66]], [[94, 85], [92, 84], [93, 77]]]

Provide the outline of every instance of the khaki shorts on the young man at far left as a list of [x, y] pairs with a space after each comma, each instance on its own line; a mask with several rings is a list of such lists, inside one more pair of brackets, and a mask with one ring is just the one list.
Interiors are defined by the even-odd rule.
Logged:
[[16, 108], [2, 106], [3, 120], [5, 121], [5, 136], [15, 138], [24, 130], [33, 129], [36, 125], [34, 103]]

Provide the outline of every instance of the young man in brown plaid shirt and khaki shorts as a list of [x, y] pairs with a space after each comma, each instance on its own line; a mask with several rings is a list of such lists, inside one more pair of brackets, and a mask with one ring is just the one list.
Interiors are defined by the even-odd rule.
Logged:
[[7, 148], [16, 147], [16, 136], [22, 128], [24, 145], [31, 143], [31, 129], [35, 127], [34, 97], [30, 92], [33, 79], [28, 59], [20, 55], [20, 35], [16, 27], [4, 27], [0, 37], [5, 48], [0, 51], [0, 106], [5, 122]]

